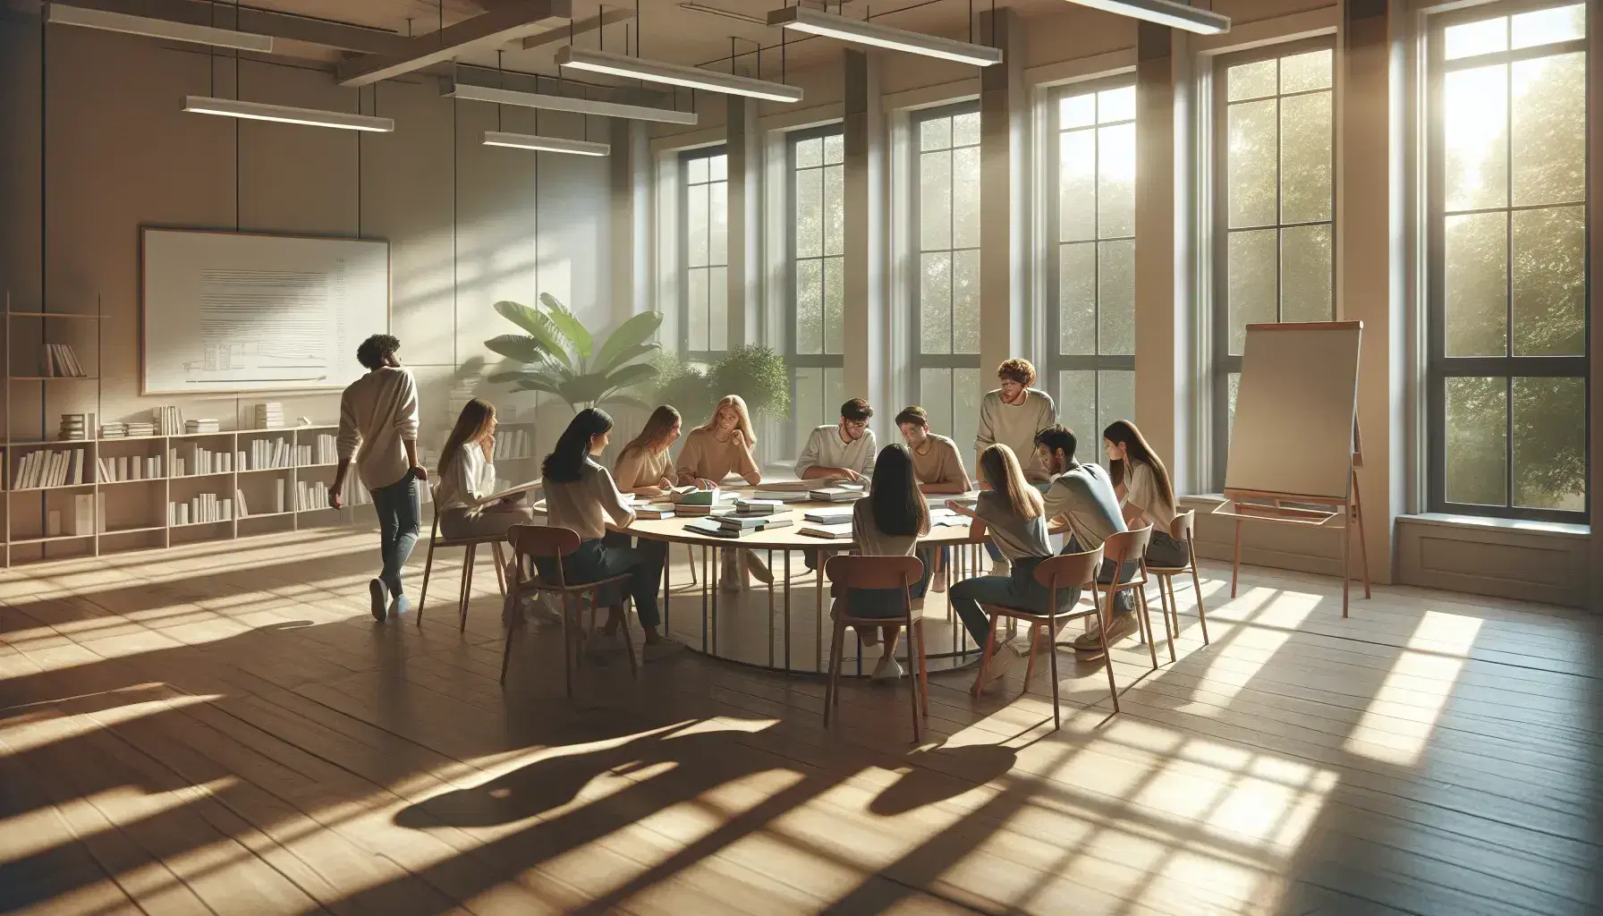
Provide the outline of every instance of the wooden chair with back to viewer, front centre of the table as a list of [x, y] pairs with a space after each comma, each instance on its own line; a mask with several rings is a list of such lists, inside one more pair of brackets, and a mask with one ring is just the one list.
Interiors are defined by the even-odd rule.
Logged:
[[[840, 661], [846, 640], [846, 627], [896, 624], [896, 618], [854, 618], [848, 613], [853, 589], [901, 589], [901, 624], [907, 630], [907, 659], [912, 663], [912, 740], [923, 740], [923, 720], [930, 715], [930, 666], [925, 661], [923, 618], [914, 614], [912, 584], [923, 578], [923, 561], [917, 557], [851, 557], [835, 555], [824, 561], [824, 574], [832, 586], [840, 587], [835, 598], [835, 637], [829, 646], [829, 687], [824, 690], [824, 727], [829, 714], [840, 704]], [[914, 655], [917, 650], [917, 655]]]

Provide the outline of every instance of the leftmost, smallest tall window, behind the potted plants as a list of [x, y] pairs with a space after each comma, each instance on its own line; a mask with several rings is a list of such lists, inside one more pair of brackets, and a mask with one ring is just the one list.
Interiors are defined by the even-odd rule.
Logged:
[[729, 348], [729, 159], [723, 148], [680, 156], [680, 350], [712, 359]]

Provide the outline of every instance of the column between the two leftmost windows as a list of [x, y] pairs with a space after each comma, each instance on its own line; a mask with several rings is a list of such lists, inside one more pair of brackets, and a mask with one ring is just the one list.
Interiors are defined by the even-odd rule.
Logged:
[[763, 144], [757, 99], [728, 96], [729, 348], [760, 342]]

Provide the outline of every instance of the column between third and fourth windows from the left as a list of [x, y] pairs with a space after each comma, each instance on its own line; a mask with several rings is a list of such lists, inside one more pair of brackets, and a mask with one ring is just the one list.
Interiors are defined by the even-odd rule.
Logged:
[[981, 13], [979, 34], [1002, 48], [1002, 63], [979, 71], [979, 390], [987, 391], [997, 364], [1031, 356], [1029, 87], [1018, 13]]

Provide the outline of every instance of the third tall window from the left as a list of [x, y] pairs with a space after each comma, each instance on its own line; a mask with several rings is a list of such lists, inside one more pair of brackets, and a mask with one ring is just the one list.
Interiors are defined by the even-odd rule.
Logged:
[[912, 398], [930, 425], [973, 448], [979, 419], [979, 107], [920, 112], [912, 165], [919, 234]]

